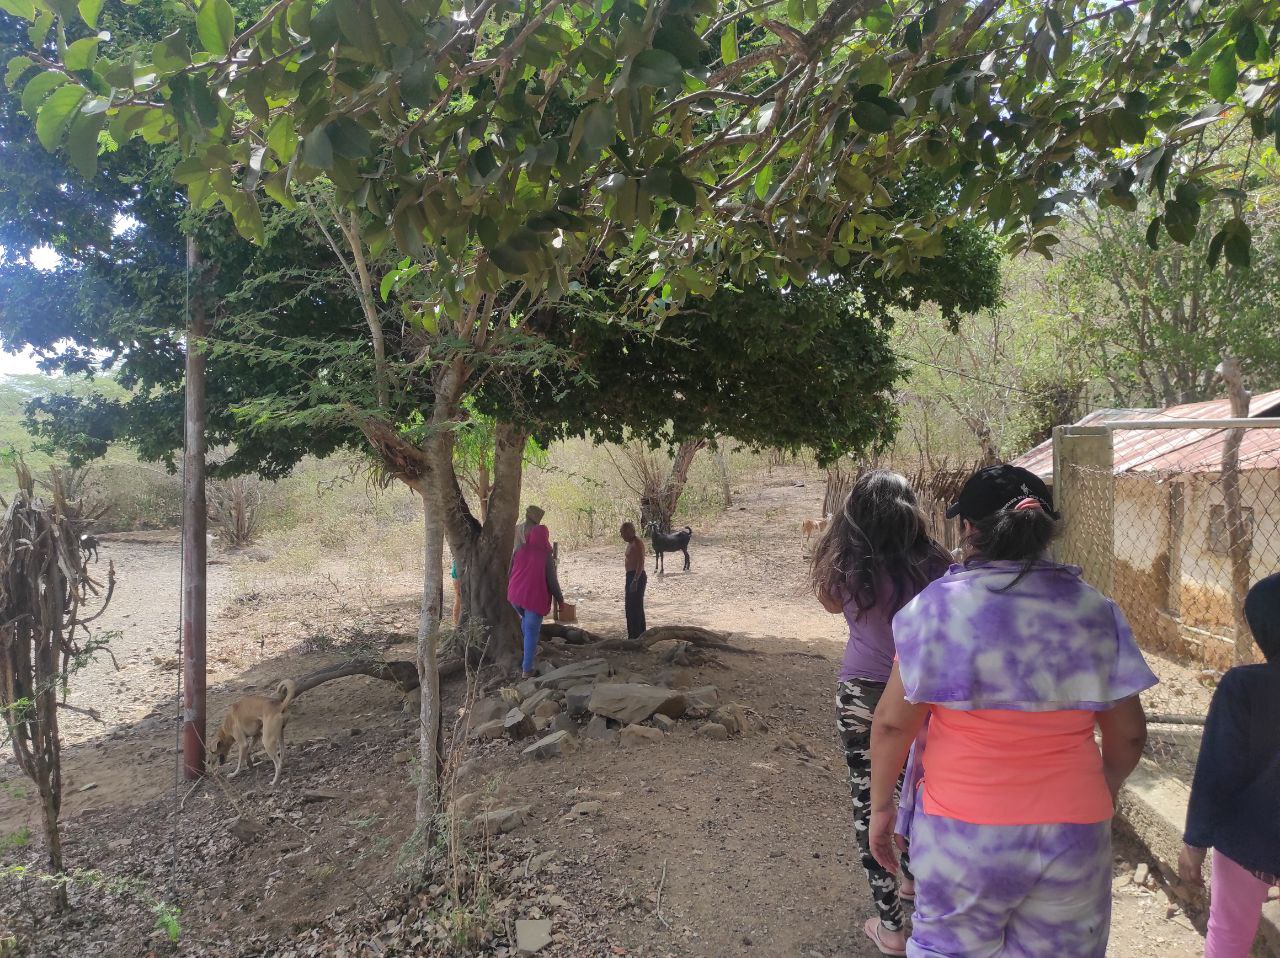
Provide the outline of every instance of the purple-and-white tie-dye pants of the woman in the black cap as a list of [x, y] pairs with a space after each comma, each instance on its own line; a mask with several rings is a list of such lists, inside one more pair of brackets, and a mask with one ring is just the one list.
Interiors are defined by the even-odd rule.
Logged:
[[1111, 822], [972, 825], [915, 809], [909, 958], [1103, 958]]

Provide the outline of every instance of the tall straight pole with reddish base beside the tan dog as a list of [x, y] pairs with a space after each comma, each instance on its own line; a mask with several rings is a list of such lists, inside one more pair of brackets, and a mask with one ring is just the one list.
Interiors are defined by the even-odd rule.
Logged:
[[200, 289], [200, 251], [187, 237], [187, 270], [196, 277], [188, 292], [186, 438], [182, 489], [182, 766], [188, 780], [205, 774], [205, 629], [209, 540], [205, 501], [205, 353], [200, 342], [209, 318]]

